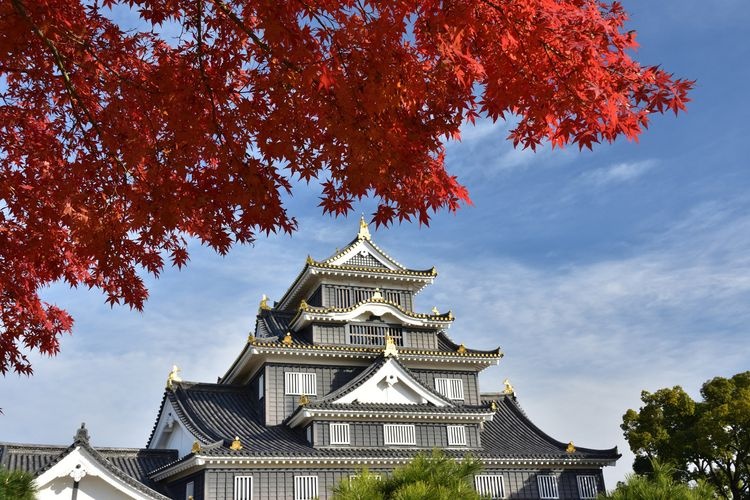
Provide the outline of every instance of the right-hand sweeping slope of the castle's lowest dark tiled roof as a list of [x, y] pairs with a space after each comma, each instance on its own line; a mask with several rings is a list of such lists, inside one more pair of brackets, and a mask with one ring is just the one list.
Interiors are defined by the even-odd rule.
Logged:
[[617, 447], [597, 450], [575, 446], [553, 439], [537, 427], [524, 413], [514, 396], [502, 395], [495, 401], [496, 412], [482, 432], [482, 457], [499, 458], [562, 458], [614, 462], [620, 458]]

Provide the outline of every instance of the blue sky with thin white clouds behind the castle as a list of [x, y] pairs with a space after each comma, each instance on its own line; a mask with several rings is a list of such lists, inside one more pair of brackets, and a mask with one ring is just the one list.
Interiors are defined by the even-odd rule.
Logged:
[[[696, 79], [688, 113], [655, 116], [639, 143], [593, 152], [513, 150], [507, 127], [481, 122], [448, 146], [448, 168], [474, 206], [401, 225], [375, 241], [413, 268], [435, 265], [417, 308], [452, 309], [449, 334], [501, 346], [482, 390], [510, 378], [530, 417], [580, 446], [617, 445], [610, 487], [630, 470], [619, 429], [640, 391], [750, 369], [750, 3], [625, 1], [637, 58]], [[219, 257], [195, 246], [186, 270], [149, 280], [143, 313], [97, 293], [54, 286], [76, 319], [54, 359], [0, 382], [0, 440], [69, 444], [85, 421], [96, 445], [143, 446], [172, 364], [213, 381], [241, 350], [262, 294], [278, 299], [307, 254], [323, 258], [356, 233], [300, 189], [293, 237], [259, 239]]]

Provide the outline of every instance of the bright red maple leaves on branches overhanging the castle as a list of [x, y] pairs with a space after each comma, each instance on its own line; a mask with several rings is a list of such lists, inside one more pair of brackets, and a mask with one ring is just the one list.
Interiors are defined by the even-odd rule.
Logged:
[[[140, 30], [113, 20], [114, 4]], [[535, 148], [635, 139], [692, 82], [634, 62], [595, 0], [9, 0], [0, 4], [0, 372], [54, 354], [64, 280], [141, 309], [139, 271], [295, 228], [280, 194], [377, 224], [456, 210], [442, 141], [519, 119]], [[159, 26], [178, 35], [158, 34]]]

